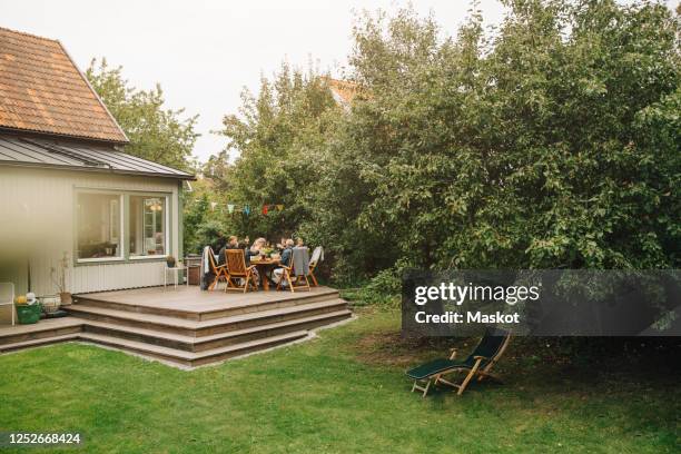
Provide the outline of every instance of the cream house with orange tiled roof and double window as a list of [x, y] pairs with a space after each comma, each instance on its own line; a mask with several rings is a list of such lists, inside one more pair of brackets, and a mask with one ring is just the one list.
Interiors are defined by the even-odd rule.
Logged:
[[126, 144], [59, 41], [0, 28], [0, 282], [38, 296], [61, 269], [75, 294], [162, 285], [194, 176]]

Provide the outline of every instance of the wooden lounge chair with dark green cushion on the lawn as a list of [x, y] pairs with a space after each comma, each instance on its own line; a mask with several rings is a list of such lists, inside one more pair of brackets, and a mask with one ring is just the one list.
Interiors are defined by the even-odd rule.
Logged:
[[[497, 376], [490, 373], [490, 369], [492, 369], [494, 364], [496, 364], [499, 358], [503, 355], [510, 340], [511, 334], [509, 332], [488, 328], [473, 353], [464, 361], [456, 361], [456, 349], [452, 349], [452, 355], [450, 355], [448, 359], [435, 359], [407, 371], [407, 376], [414, 379], [412, 393], [418, 389], [423, 392], [423, 397], [425, 397], [431, 385], [443, 383], [457, 389], [457, 395], [462, 395], [474, 377], [477, 377], [478, 382], [482, 382], [485, 377], [501, 382]], [[443, 378], [444, 375], [461, 371], [467, 371], [461, 384], [455, 384]], [[421, 384], [423, 384], [423, 386]]]

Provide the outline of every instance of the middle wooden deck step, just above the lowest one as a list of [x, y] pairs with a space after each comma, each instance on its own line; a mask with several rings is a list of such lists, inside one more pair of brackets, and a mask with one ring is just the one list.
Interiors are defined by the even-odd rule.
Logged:
[[293, 330], [314, 329], [349, 317], [352, 317], [352, 312], [342, 309], [200, 337], [97, 320], [83, 320], [83, 326], [87, 333], [145, 342], [186, 352], [203, 352], [241, 342], [276, 336]]

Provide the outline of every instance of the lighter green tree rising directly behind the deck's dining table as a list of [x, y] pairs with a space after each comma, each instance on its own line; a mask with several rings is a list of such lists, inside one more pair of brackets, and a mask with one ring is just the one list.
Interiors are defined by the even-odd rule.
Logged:
[[[234, 233], [293, 235], [310, 215], [317, 157], [339, 109], [314, 69], [303, 73], [287, 65], [273, 80], [261, 79], [257, 97], [245, 90], [241, 99], [240, 115], [226, 116], [220, 131], [239, 157], [234, 165], [225, 154], [214, 157], [206, 174], [224, 189], [226, 200], [251, 209], [253, 215], [228, 218]], [[260, 216], [264, 205], [285, 209]]]

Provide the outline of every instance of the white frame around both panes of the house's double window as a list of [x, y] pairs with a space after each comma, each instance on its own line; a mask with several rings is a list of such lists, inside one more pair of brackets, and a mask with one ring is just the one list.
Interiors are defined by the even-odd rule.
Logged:
[[[118, 257], [97, 257], [97, 258], [78, 258], [78, 196], [80, 194], [102, 194], [119, 196], [120, 204], [120, 255]], [[175, 193], [162, 191], [162, 190], [131, 190], [131, 189], [116, 189], [116, 188], [95, 188], [95, 187], [73, 187], [73, 245], [72, 245], [72, 263], [73, 266], [88, 266], [88, 265], [118, 265], [118, 264], [130, 264], [139, 261], [161, 261], [166, 260], [168, 256], [172, 255], [172, 235], [175, 235], [172, 227], [172, 196]], [[164, 255], [149, 255], [149, 256], [131, 256], [130, 255], [130, 196], [141, 197], [157, 197], [166, 200], [166, 254]]]

